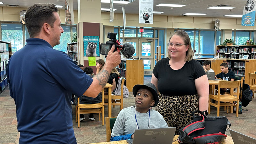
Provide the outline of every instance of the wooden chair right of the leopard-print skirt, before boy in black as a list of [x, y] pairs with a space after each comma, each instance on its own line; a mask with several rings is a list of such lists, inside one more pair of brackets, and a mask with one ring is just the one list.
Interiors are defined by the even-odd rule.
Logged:
[[[217, 108], [217, 116], [220, 116], [220, 107], [227, 107], [230, 106], [230, 112], [233, 112], [233, 106], [236, 106], [236, 117], [238, 117], [238, 102], [239, 102], [239, 91], [240, 91], [240, 80], [238, 81], [219, 81], [218, 84], [218, 94], [209, 95], [209, 107], [208, 113], [211, 112], [211, 105]], [[220, 88], [230, 88], [229, 94], [220, 94]], [[234, 96], [234, 88], [237, 89], [236, 96]], [[215, 100], [216, 103], [212, 103], [211, 100]], [[223, 101], [224, 103], [220, 103]], [[236, 101], [236, 104], [233, 103]], [[228, 113], [228, 108], [227, 108]]]

